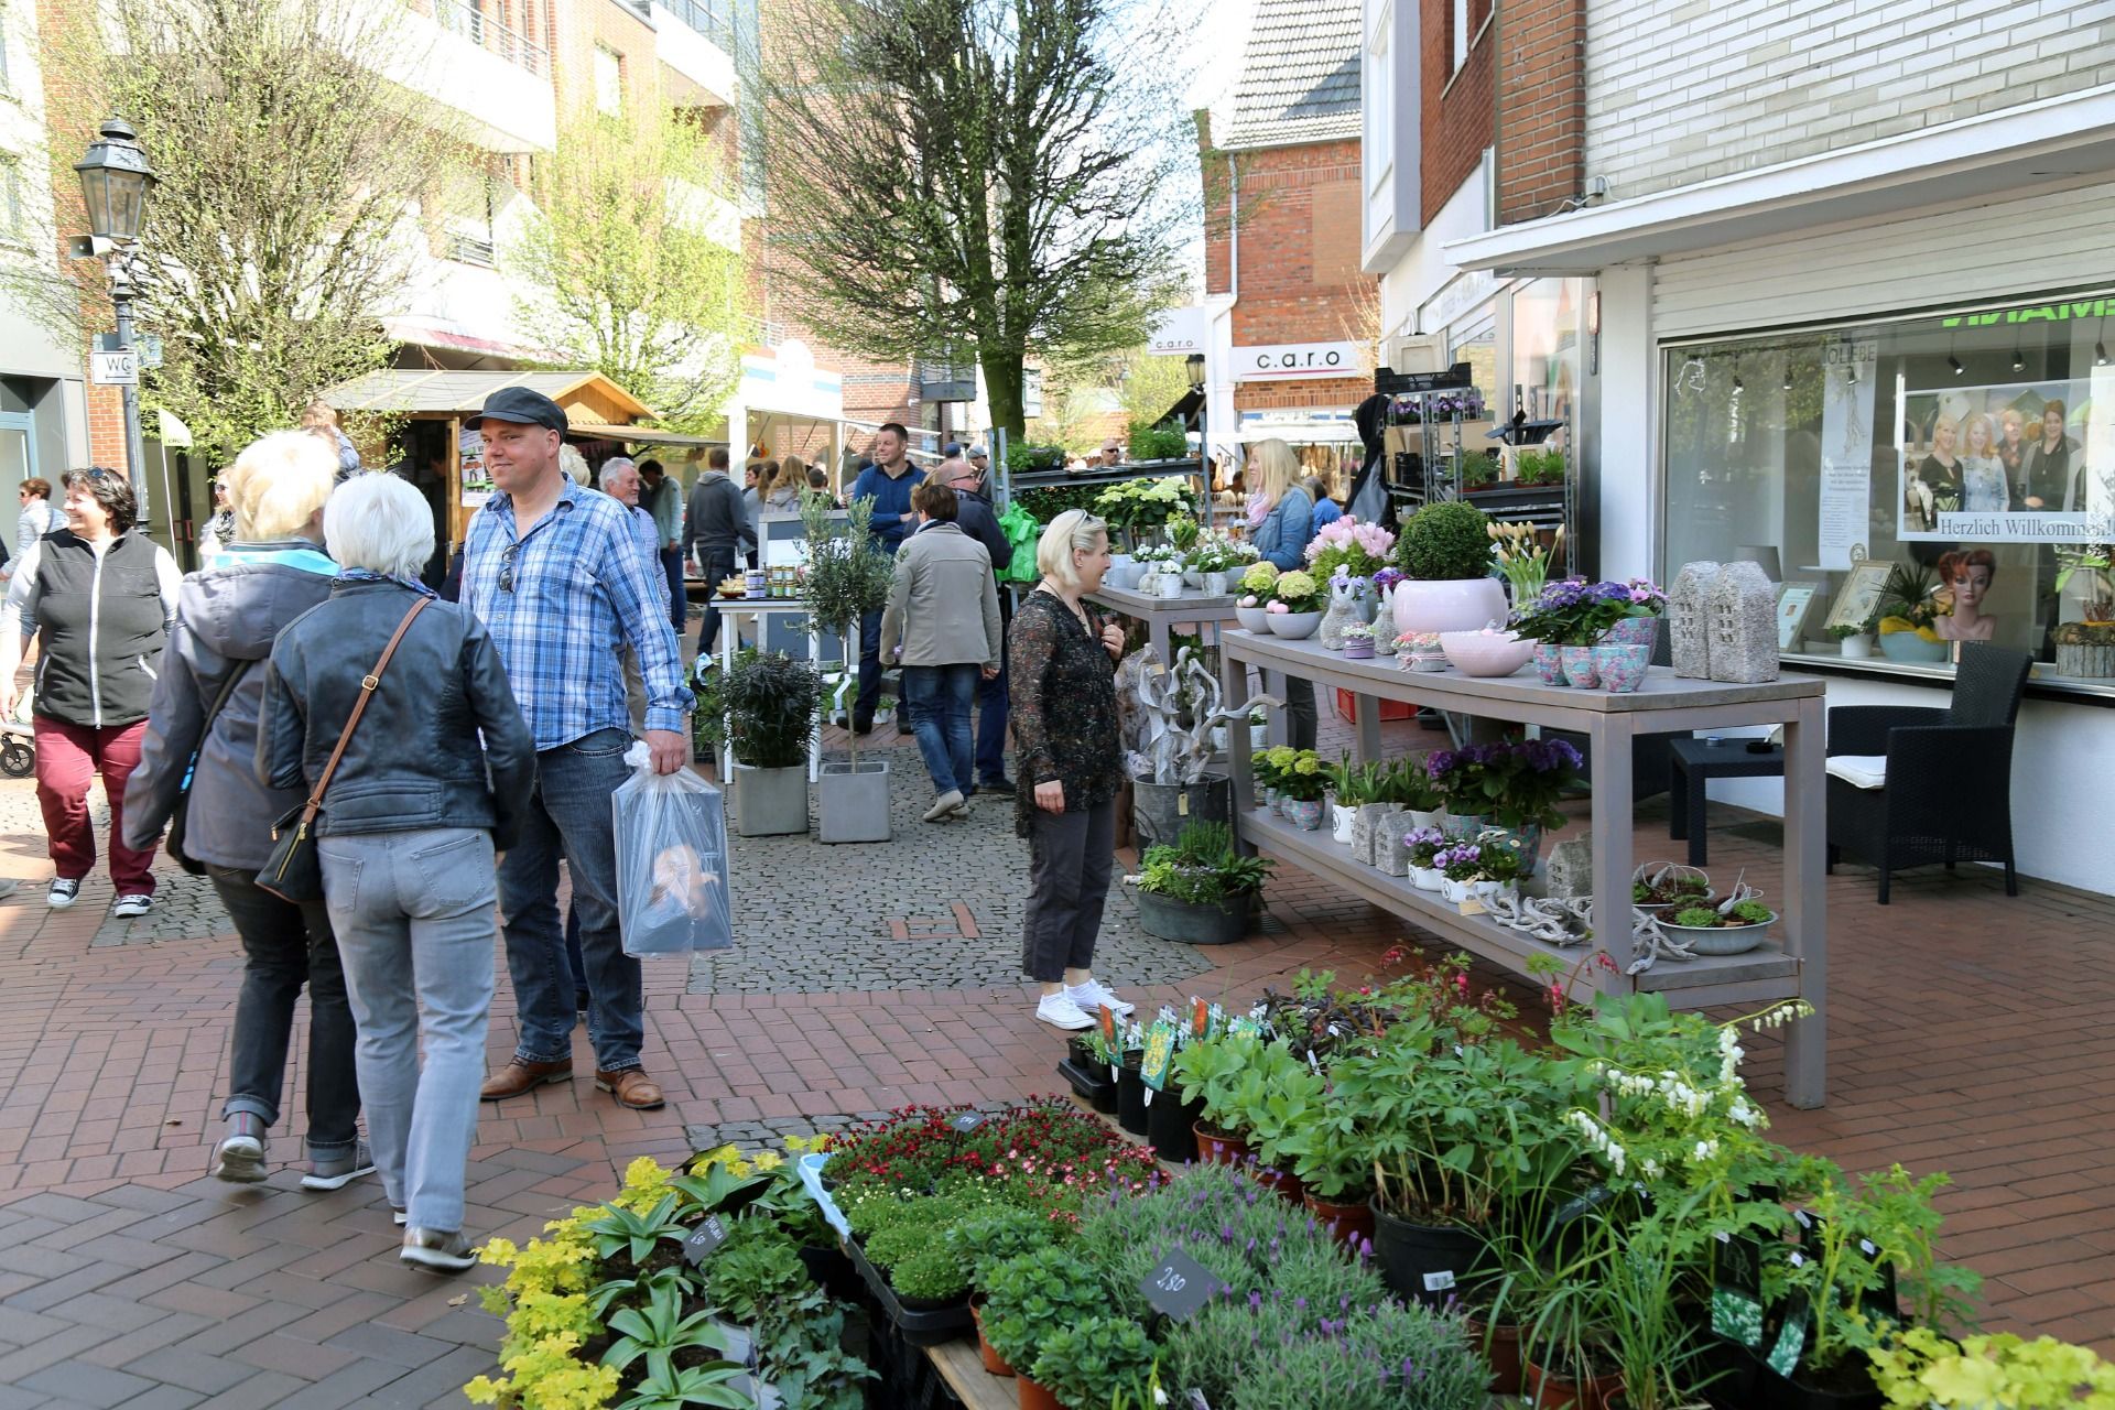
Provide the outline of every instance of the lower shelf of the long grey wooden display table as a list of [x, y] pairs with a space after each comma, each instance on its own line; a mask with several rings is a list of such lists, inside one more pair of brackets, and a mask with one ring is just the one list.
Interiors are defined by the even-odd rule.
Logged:
[[[1548, 956], [1561, 964], [1576, 966], [1590, 949], [1574, 945], [1559, 949], [1533, 936], [1508, 930], [1483, 915], [1461, 915], [1447, 905], [1438, 892], [1417, 890], [1409, 877], [1392, 877], [1377, 867], [1366, 867], [1351, 858], [1351, 852], [1324, 831], [1307, 831], [1263, 810], [1242, 810], [1242, 839], [1258, 852], [1299, 865], [1318, 877], [1339, 882], [1345, 890], [1364, 896], [1383, 911], [1432, 930], [1442, 941], [1459, 945], [1485, 960], [1504, 964], [1521, 975], [1527, 972], [1531, 956]], [[1698, 956], [1696, 960], [1658, 960], [1643, 975], [1601, 977], [1599, 987], [1635, 987], [1667, 996], [1675, 1008], [1707, 1008], [1713, 1004], [1768, 1002], [1774, 998], [1796, 998], [1800, 994], [1800, 962], [1787, 956], [1777, 943], [1764, 943], [1745, 956]]]

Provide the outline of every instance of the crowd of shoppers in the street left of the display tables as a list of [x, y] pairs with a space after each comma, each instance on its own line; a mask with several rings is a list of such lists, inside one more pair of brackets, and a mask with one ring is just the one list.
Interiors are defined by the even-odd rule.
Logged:
[[[235, 924], [245, 964], [212, 1173], [269, 1177], [307, 991], [300, 1184], [336, 1190], [379, 1171], [400, 1256], [434, 1270], [476, 1258], [463, 1177], [480, 1099], [575, 1080], [575, 1023], [596, 1089], [624, 1108], [664, 1103], [641, 1061], [641, 966], [620, 941], [611, 793], [635, 738], [654, 772], [687, 767], [683, 560], [713, 581], [755, 537], [723, 450], [687, 514], [670, 514], [679, 488], [654, 463], [605, 461], [590, 488], [548, 397], [503, 389], [470, 421], [495, 493], [470, 516], [444, 590], [423, 581], [431, 505], [396, 474], [362, 474], [332, 421], [235, 459], [190, 575], [140, 531], [123, 474], [68, 471], [59, 505], [51, 486], [25, 484], [0, 619], [8, 717], [36, 647], [47, 905], [72, 907], [95, 865], [99, 776], [114, 913], [152, 909], [167, 848]], [[1011, 727], [1036, 1013], [1060, 1027], [1085, 1027], [1100, 1004], [1129, 1013], [1091, 975], [1121, 774], [1123, 632], [1085, 602], [1108, 567], [1106, 526], [1079, 509], [1049, 524], [1041, 583], [1009, 628], [994, 562], [1011, 545], [983, 493], [986, 457], [950, 448], [918, 471], [907, 442], [901, 425], [882, 427], [848, 490], [876, 499], [873, 548], [895, 554], [888, 607], [861, 632], [852, 725], [871, 729], [882, 662], [899, 666], [935, 822], [979, 789], [1015, 793]], [[827, 493], [827, 478], [793, 465], [753, 486], [759, 505]], [[704, 655], [715, 617], [704, 613]], [[495, 932], [518, 1038], [486, 1072]]]

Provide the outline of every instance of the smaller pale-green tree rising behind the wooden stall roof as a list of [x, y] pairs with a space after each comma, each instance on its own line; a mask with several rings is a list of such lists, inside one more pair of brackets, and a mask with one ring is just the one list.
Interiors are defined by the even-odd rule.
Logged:
[[679, 114], [565, 125], [501, 252], [550, 366], [594, 368], [683, 431], [717, 425], [749, 328], [740, 224], [713, 137]]

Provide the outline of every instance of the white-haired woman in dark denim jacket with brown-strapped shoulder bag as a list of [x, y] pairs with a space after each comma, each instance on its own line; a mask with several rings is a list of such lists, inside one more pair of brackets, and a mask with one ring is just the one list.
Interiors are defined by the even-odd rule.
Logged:
[[419, 490], [355, 476], [330, 497], [324, 533], [345, 567], [330, 600], [273, 645], [256, 772], [321, 797], [324, 905], [374, 1163], [408, 1224], [402, 1258], [461, 1273], [476, 1262], [463, 1167], [493, 1002], [495, 852], [533, 793], [535, 744], [484, 624], [419, 581], [434, 552]]

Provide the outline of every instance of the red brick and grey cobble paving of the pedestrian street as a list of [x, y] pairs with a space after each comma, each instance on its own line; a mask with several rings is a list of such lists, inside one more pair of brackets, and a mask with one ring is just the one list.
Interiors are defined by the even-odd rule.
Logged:
[[[637, 1154], [1058, 1084], [1058, 1040], [1015, 977], [1011, 805], [918, 824], [916, 750], [893, 757], [895, 843], [744, 841], [740, 947], [647, 966], [666, 1110], [618, 1110], [584, 1078], [484, 1110], [474, 1230], [535, 1232]], [[1713, 869], [1774, 890], [1774, 824], [1713, 822]], [[1645, 803], [1639, 856], [1671, 854], [1665, 837], [1665, 799]], [[15, 780], [0, 875], [23, 877], [0, 903], [0, 1410], [461, 1406], [497, 1323], [465, 1281], [398, 1264], [379, 1184], [296, 1188], [298, 1101], [266, 1186], [203, 1175], [241, 972], [209, 890], [165, 869], [148, 920], [108, 920], [106, 877], [47, 911], [34, 795]], [[1777, 1044], [1749, 1044], [1779, 1135], [1855, 1167], [1950, 1169], [1944, 1249], [1988, 1275], [1992, 1321], [2115, 1349], [2115, 903], [2035, 882], [2007, 901], [1994, 877], [1939, 871], [1899, 879], [1887, 909], [1872, 892], [1857, 867], [1829, 882], [1829, 1106], [1783, 1108]], [[1267, 901], [1263, 939], [1193, 951], [1140, 936], [1112, 896], [1100, 972], [1148, 1002], [1252, 996], [1303, 966], [1368, 972], [1402, 936], [1296, 871]], [[491, 1053], [512, 1038], [501, 983]], [[584, 1034], [577, 1057], [586, 1072]]]

